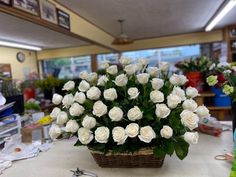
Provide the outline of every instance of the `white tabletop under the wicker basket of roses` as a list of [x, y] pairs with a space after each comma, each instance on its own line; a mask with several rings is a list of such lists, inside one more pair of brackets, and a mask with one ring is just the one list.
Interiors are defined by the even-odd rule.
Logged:
[[179, 160], [175, 155], [166, 156], [160, 169], [110, 169], [97, 166], [86, 147], [74, 147], [73, 140], [54, 143], [48, 152], [38, 157], [17, 161], [1, 177], [71, 177], [69, 170], [87, 169], [99, 177], [229, 177], [232, 164], [215, 160], [233, 147], [231, 131], [221, 137], [200, 133], [199, 143], [191, 145], [188, 156]]

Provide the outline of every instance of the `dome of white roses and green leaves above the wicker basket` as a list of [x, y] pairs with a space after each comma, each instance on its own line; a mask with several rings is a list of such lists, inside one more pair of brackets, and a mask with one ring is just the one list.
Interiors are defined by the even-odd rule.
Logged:
[[[82, 72], [78, 87], [68, 81], [63, 97], [54, 94], [57, 105], [50, 116], [55, 124], [50, 136], [55, 139], [62, 129], [78, 137], [76, 146], [103, 153], [134, 153], [151, 149], [157, 157], [174, 152], [180, 159], [188, 154], [189, 144], [198, 142], [194, 131], [199, 118], [209, 111], [193, 100], [198, 91], [183, 90], [184, 75], [166, 73], [168, 63], [148, 67], [147, 60], [130, 64], [120, 60], [123, 68], [106, 66], [106, 75]], [[64, 128], [63, 128], [64, 127]], [[132, 145], [131, 145], [132, 144]]]

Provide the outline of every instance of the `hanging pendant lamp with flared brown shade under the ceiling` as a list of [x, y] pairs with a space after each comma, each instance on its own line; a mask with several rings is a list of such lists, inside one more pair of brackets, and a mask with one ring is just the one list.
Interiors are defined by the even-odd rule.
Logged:
[[120, 34], [113, 40], [113, 45], [126, 45], [133, 43], [133, 40], [130, 39], [127, 34], [124, 33], [123, 23], [125, 20], [117, 20], [120, 23]]

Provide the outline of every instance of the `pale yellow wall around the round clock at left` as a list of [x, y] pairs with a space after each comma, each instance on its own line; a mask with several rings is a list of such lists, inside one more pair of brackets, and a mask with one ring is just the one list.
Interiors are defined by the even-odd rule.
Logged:
[[[25, 54], [25, 61], [20, 63], [16, 60], [17, 52]], [[0, 47], [0, 64], [11, 64], [13, 79], [24, 79], [24, 70], [33, 72], [37, 71], [36, 53], [28, 50]]]

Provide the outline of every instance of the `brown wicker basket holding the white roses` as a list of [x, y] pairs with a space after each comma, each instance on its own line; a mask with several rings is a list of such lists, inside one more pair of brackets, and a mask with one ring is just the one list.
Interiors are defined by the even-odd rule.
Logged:
[[152, 150], [146, 149], [134, 154], [104, 155], [99, 151], [91, 151], [91, 154], [96, 163], [103, 168], [160, 168], [165, 158], [157, 158]]

